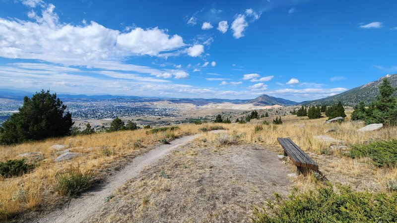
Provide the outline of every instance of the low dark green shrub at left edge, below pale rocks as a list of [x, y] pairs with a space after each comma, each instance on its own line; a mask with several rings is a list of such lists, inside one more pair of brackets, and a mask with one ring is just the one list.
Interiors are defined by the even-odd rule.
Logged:
[[6, 178], [20, 176], [33, 168], [34, 165], [27, 164], [24, 159], [7, 160], [6, 162], [0, 162], [0, 176]]

